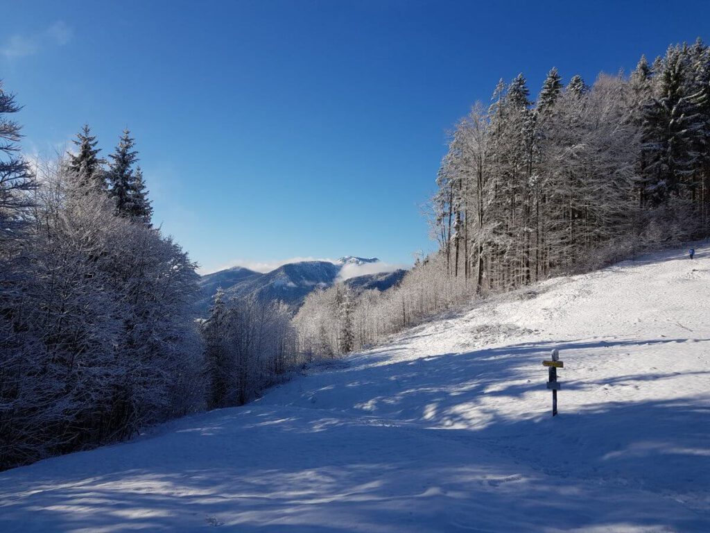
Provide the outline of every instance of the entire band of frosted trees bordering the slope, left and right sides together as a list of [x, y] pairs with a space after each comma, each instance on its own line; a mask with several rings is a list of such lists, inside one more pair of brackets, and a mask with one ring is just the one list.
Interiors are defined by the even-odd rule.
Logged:
[[21, 155], [0, 85], [0, 469], [244, 404], [288, 371], [435, 313], [709, 235], [710, 50], [674, 45], [629, 75], [498, 83], [454, 126], [429, 203], [437, 252], [398, 286], [197, 320], [196, 264], [151, 222], [135, 141], [107, 159], [84, 126], [55, 160]]

